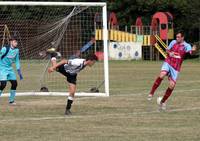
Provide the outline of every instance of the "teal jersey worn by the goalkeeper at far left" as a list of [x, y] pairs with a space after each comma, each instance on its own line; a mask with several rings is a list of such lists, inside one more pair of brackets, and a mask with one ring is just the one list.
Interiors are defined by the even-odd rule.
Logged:
[[0, 69], [12, 69], [12, 64], [16, 64], [16, 69], [20, 69], [20, 61], [19, 61], [19, 49], [18, 48], [11, 48], [8, 51], [8, 54], [1, 59], [6, 53], [6, 47], [3, 47], [0, 51]]

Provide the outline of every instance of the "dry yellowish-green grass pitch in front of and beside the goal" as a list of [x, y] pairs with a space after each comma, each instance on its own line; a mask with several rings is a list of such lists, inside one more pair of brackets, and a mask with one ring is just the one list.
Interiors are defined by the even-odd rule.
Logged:
[[70, 117], [63, 116], [66, 97], [17, 97], [15, 107], [1, 97], [0, 140], [199, 141], [200, 63], [183, 64], [166, 112], [158, 112], [156, 97], [165, 92], [167, 79], [146, 100], [161, 64], [110, 62], [110, 97], [76, 98]]

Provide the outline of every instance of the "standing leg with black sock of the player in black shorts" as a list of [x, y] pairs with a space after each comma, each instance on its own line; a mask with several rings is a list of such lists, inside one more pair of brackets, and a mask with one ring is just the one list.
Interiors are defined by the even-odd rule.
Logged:
[[68, 100], [67, 100], [65, 115], [71, 115], [70, 109], [71, 109], [72, 103], [74, 101], [75, 92], [76, 92], [76, 85], [69, 83], [69, 96], [68, 96]]

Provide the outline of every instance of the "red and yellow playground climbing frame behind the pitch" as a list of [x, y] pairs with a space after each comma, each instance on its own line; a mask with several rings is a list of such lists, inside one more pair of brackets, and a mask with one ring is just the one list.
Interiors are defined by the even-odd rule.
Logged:
[[[114, 42], [142, 42], [143, 59], [159, 60], [166, 58], [169, 40], [174, 38], [173, 16], [169, 12], [157, 12], [152, 16], [150, 26], [144, 26], [142, 17], [136, 19], [130, 31], [119, 30], [115, 13], [109, 16], [108, 37]], [[96, 41], [102, 40], [102, 29], [95, 30]], [[161, 57], [162, 56], [162, 57]]]

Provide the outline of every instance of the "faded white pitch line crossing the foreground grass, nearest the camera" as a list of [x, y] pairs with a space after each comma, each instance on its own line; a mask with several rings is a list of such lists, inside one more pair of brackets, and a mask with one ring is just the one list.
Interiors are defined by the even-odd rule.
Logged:
[[156, 114], [156, 113], [172, 113], [172, 112], [183, 112], [183, 111], [195, 111], [200, 110], [200, 107], [192, 107], [192, 108], [184, 108], [184, 109], [172, 109], [164, 112], [160, 112], [159, 110], [149, 111], [149, 112], [133, 112], [128, 114], [103, 114], [103, 115], [72, 115], [72, 116], [51, 116], [51, 117], [34, 117], [34, 118], [13, 118], [13, 119], [2, 119], [0, 123], [5, 122], [21, 122], [21, 121], [44, 121], [44, 120], [58, 120], [58, 119], [79, 119], [79, 118], [133, 118], [135, 115], [143, 115], [143, 114]]

